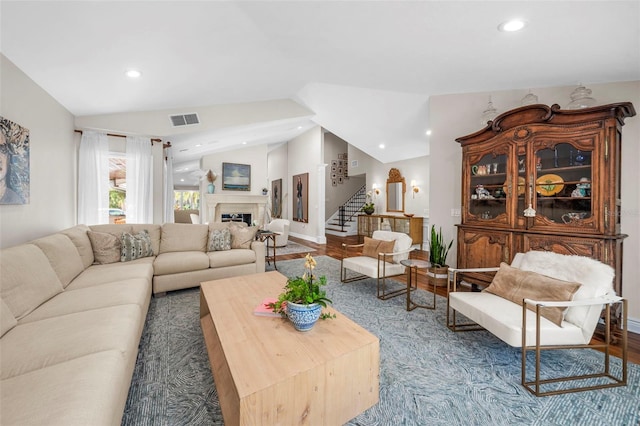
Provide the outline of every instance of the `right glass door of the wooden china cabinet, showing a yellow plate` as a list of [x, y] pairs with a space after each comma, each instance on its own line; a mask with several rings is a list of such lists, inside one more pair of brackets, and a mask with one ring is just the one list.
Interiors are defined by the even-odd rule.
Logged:
[[534, 154], [536, 224], [581, 226], [588, 221], [592, 216], [593, 151], [559, 143]]

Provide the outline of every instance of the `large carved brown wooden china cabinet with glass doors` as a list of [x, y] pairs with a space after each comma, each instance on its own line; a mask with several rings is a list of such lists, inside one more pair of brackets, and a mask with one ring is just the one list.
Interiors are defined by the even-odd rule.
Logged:
[[456, 139], [463, 158], [457, 266], [499, 266], [529, 250], [588, 256], [616, 270], [622, 294], [620, 147], [624, 120], [635, 114], [629, 102], [527, 105]]

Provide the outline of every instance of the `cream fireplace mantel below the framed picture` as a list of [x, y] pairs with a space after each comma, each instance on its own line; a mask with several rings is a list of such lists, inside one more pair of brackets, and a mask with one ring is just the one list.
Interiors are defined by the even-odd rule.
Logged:
[[223, 214], [251, 213], [258, 224], [264, 223], [267, 195], [205, 194], [208, 222], [221, 222]]

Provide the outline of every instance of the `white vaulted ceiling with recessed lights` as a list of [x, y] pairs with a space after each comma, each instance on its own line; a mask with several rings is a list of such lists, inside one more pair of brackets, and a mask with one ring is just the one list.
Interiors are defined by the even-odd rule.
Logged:
[[[284, 126], [193, 126], [179, 138], [192, 148], [319, 124], [397, 161], [428, 152], [429, 96], [640, 80], [637, 0], [4, 0], [0, 12], [2, 53], [78, 117], [274, 99], [310, 111]], [[498, 31], [516, 17], [522, 31]]]

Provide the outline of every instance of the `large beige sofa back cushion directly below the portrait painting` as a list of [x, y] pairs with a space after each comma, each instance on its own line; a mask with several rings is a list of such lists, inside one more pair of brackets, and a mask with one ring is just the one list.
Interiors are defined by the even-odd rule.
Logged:
[[0, 297], [17, 320], [61, 291], [60, 279], [38, 246], [22, 244], [2, 250]]

